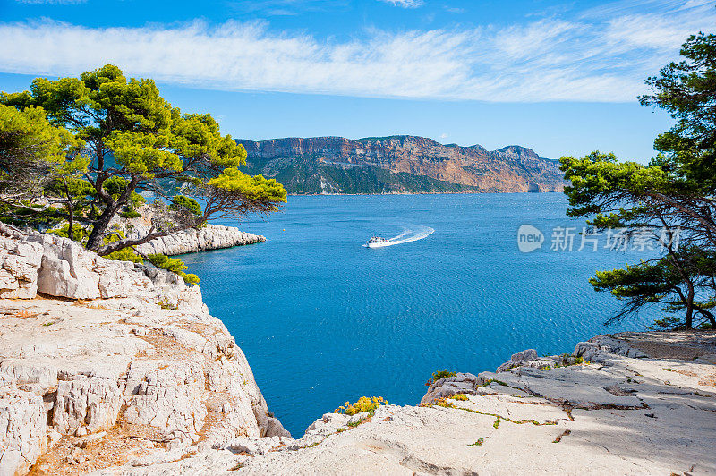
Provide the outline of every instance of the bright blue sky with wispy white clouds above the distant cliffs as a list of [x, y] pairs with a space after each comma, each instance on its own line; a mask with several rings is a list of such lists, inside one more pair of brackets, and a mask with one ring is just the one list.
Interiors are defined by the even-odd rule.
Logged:
[[0, 0], [0, 90], [106, 63], [236, 138], [413, 134], [647, 161], [639, 106], [716, 1]]

